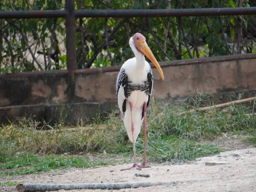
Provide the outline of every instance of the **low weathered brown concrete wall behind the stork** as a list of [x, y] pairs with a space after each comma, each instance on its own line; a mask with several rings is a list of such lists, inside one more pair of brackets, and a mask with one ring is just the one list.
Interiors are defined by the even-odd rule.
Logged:
[[[179, 98], [198, 92], [256, 90], [256, 55], [236, 55], [162, 62], [165, 79], [156, 69], [155, 98]], [[15, 117], [75, 124], [117, 107], [115, 82], [119, 67], [75, 72], [40, 71], [0, 75], [0, 122]]]

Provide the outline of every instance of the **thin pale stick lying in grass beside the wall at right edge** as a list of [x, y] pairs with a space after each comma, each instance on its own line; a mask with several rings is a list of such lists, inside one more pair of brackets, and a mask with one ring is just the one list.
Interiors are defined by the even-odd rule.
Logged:
[[224, 106], [230, 106], [232, 104], [240, 104], [240, 103], [249, 102], [249, 101], [252, 101], [252, 100], [256, 100], [256, 96], [251, 97], [251, 98], [241, 99], [241, 100], [234, 100], [234, 101], [231, 101], [231, 102], [225, 102], [225, 103], [222, 103], [222, 104], [216, 104], [216, 105], [213, 105], [213, 106], [205, 106], [205, 107], [201, 107], [201, 108], [197, 108], [197, 109], [191, 109], [191, 110], [185, 111], [183, 113], [179, 113], [179, 115], [184, 115], [185, 113], [192, 113], [194, 111], [205, 111], [205, 110], [210, 110], [210, 109], [213, 109], [213, 108], [222, 108]]

